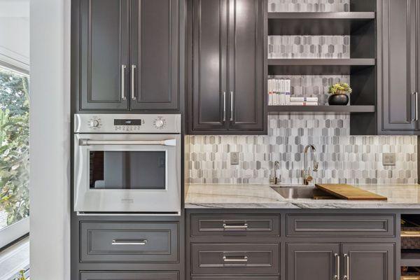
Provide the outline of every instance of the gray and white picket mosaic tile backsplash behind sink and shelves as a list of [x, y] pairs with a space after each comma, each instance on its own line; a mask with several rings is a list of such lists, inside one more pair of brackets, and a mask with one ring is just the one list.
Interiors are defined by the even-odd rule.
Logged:
[[[349, 0], [269, 0], [269, 12], [348, 12]], [[269, 36], [269, 58], [347, 58], [351, 36]], [[349, 76], [290, 78], [295, 97], [327, 104], [328, 85]], [[189, 183], [268, 183], [280, 162], [282, 183], [302, 183], [303, 149], [314, 144], [316, 183], [417, 183], [415, 136], [351, 136], [349, 115], [269, 116], [267, 136], [186, 136], [185, 178]], [[230, 153], [239, 152], [239, 165]], [[395, 153], [395, 166], [382, 154]], [[311, 163], [311, 159], [309, 159]]]

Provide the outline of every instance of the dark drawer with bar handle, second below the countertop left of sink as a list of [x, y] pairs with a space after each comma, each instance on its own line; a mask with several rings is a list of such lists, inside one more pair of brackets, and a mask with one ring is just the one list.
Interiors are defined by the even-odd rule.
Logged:
[[279, 273], [279, 244], [191, 244], [192, 274]]

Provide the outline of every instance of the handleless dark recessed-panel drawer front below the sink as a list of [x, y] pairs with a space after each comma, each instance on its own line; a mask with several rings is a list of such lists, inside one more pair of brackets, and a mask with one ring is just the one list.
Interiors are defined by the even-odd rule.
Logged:
[[288, 236], [393, 237], [393, 215], [287, 215]]

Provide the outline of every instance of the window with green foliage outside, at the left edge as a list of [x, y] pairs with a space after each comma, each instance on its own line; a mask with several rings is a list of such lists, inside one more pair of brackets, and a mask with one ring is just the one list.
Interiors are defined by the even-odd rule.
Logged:
[[29, 232], [28, 86], [0, 66], [0, 248]]

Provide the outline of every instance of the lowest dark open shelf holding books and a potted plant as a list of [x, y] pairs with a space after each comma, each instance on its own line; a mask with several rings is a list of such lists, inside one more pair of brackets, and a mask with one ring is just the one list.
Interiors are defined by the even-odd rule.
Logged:
[[268, 113], [270, 115], [277, 115], [282, 113], [374, 113], [374, 106], [268, 106]]

